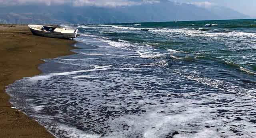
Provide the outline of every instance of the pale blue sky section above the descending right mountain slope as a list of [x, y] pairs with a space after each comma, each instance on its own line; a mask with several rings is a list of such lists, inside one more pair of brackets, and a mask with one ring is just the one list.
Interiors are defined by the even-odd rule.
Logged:
[[213, 4], [232, 8], [252, 18], [256, 18], [256, 0], [173, 0], [179, 3], [193, 3], [198, 5]]

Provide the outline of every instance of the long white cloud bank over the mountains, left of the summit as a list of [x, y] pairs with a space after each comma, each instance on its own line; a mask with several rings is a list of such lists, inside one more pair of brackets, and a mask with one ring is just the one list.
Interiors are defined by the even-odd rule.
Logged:
[[159, 2], [158, 0], [0, 0], [3, 6], [19, 6], [29, 4], [45, 4], [61, 5], [70, 4], [72, 6], [103, 6], [103, 7], [116, 7], [116, 6], [133, 6], [140, 4], [153, 4]]

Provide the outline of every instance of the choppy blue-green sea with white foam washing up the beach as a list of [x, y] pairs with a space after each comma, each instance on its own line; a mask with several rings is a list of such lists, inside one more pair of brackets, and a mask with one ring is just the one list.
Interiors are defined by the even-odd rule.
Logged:
[[256, 138], [256, 20], [72, 24], [7, 88], [57, 138]]

